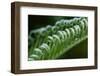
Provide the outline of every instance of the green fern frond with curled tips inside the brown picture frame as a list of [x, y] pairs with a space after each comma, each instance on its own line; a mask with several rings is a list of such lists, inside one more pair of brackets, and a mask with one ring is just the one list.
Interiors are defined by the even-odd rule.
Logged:
[[56, 59], [87, 38], [87, 18], [60, 20], [29, 34], [29, 60]]

